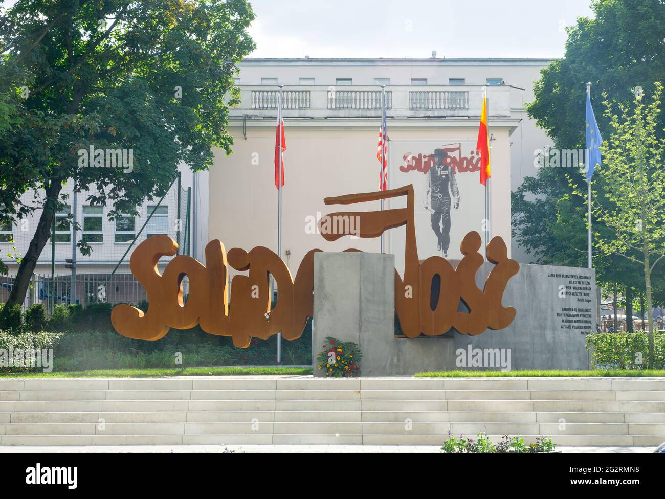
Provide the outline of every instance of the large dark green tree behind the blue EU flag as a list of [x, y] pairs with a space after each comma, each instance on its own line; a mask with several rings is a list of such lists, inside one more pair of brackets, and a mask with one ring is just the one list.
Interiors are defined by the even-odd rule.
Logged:
[[[665, 81], [662, 1], [596, 0], [592, 6], [595, 18], [577, 19], [575, 27], [567, 30], [565, 57], [541, 71], [535, 100], [527, 106], [529, 116], [559, 149], [585, 147], [586, 82], [593, 82], [595, 94], [604, 91], [630, 102], [636, 87], [652, 92], [653, 82]], [[599, 114], [597, 119], [602, 136], [609, 136], [608, 118]], [[665, 115], [658, 120], [656, 136], [662, 137]], [[587, 207], [583, 199], [571, 195], [568, 176], [585, 182], [579, 172], [561, 168], [541, 168], [537, 177], [524, 180], [512, 194], [513, 235], [539, 263], [586, 266]], [[602, 199], [604, 187], [599, 181], [596, 188]], [[612, 235], [600, 220], [594, 219], [593, 227], [603, 237]], [[593, 264], [599, 284], [644, 285], [642, 270], [622, 256], [595, 249]]]

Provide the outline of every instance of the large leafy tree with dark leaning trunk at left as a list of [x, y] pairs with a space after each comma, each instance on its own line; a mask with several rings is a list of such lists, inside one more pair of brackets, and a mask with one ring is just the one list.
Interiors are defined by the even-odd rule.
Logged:
[[[112, 220], [162, 197], [178, 164], [199, 171], [213, 146], [231, 152], [233, 76], [254, 48], [253, 18], [245, 0], [19, 0], [0, 11], [0, 218], [43, 209], [8, 304], [25, 297], [66, 181], [90, 204], [112, 202]], [[132, 165], [86, 167], [90, 146], [132, 151]], [[21, 203], [27, 191], [33, 203]]]

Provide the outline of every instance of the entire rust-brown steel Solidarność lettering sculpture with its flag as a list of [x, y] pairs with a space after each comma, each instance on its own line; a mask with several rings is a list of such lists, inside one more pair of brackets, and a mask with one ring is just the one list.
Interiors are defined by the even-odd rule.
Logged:
[[[327, 241], [348, 235], [379, 237], [388, 229], [405, 227], [403, 277], [395, 270], [395, 309], [404, 335], [439, 336], [451, 328], [462, 334], [477, 335], [488, 328], [499, 330], [509, 326], [516, 312], [514, 308], [503, 307], [501, 298], [519, 264], [508, 258], [503, 239], [494, 237], [487, 245], [487, 260], [494, 267], [480, 290], [475, 285], [475, 273], [483, 264], [479, 252], [482, 240], [475, 231], [467, 233], [460, 242], [463, 258], [455, 269], [438, 255], [420, 261], [412, 185], [324, 201], [327, 205], [349, 205], [398, 198], [404, 199], [405, 207], [330, 213], [321, 219], [320, 227]], [[339, 223], [349, 220], [354, 223]], [[130, 269], [146, 289], [149, 306], [147, 312], [127, 304], [113, 308], [111, 321], [122, 336], [159, 340], [170, 328], [188, 329], [199, 324], [209, 334], [232, 337], [233, 344], [243, 348], [249, 346], [252, 337], [266, 340], [279, 332], [285, 340], [300, 338], [307, 319], [313, 315], [314, 254], [320, 249], [305, 255], [295, 279], [273, 251], [255, 247], [249, 252], [233, 248], [227, 253], [219, 240], [210, 241], [205, 247], [205, 266], [191, 256], [178, 255], [160, 274], [159, 259], [176, 254], [177, 248], [170, 237], [156, 235], [132, 253]], [[230, 307], [229, 265], [248, 272], [233, 277]], [[187, 299], [183, 296], [185, 276], [190, 284]], [[269, 276], [273, 276], [279, 288], [277, 304], [272, 310]], [[433, 291], [435, 278], [440, 279], [441, 285]], [[458, 312], [460, 301], [468, 312]]]

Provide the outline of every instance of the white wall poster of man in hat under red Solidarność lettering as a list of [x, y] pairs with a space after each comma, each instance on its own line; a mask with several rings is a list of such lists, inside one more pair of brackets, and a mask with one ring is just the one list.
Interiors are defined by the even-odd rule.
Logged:
[[[480, 155], [475, 141], [392, 140], [388, 153], [392, 185], [414, 186], [414, 223], [421, 257], [460, 259], [471, 227], [484, 241], [485, 187], [479, 183]], [[390, 207], [403, 207], [394, 200]], [[471, 225], [473, 224], [473, 225]], [[390, 234], [398, 268], [404, 260], [404, 232]]]

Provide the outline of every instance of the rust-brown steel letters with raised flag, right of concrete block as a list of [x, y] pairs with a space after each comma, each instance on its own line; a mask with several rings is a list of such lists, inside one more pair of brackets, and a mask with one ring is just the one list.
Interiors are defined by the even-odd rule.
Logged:
[[[483, 264], [478, 252], [482, 240], [477, 232], [469, 232], [460, 245], [464, 258], [453, 270], [441, 256], [430, 256], [424, 262], [418, 258], [416, 229], [414, 223], [414, 190], [412, 185], [370, 193], [343, 195], [324, 199], [327, 205], [348, 205], [364, 201], [376, 201], [391, 197], [406, 196], [406, 208], [383, 211], [336, 212], [323, 217], [358, 217], [356, 234], [360, 237], [378, 237], [387, 229], [406, 225], [404, 248], [404, 279], [395, 270], [395, 310], [404, 335], [417, 338], [420, 334], [438, 336], [454, 327], [462, 334], [481, 334], [487, 328], [502, 329], [515, 318], [514, 308], [504, 308], [501, 297], [508, 280], [517, 274], [519, 264], [507, 257], [503, 239], [494, 237], [487, 245], [487, 258], [495, 264], [485, 282], [483, 291], [475, 285], [475, 272]], [[358, 227], [359, 225], [359, 233]], [[347, 234], [323, 233], [325, 239], [334, 241]], [[432, 279], [438, 275], [441, 289], [434, 310]], [[458, 312], [460, 300], [469, 312]]]

